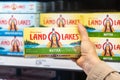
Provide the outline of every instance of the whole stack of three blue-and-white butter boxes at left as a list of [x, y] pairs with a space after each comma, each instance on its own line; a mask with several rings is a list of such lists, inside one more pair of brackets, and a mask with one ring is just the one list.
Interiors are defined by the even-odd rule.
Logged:
[[0, 2], [0, 55], [23, 56], [23, 29], [39, 26], [40, 2]]

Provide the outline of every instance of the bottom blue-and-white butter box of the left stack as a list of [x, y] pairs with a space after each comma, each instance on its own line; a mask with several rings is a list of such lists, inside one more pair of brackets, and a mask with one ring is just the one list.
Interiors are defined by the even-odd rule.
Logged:
[[23, 56], [23, 37], [0, 36], [0, 55]]

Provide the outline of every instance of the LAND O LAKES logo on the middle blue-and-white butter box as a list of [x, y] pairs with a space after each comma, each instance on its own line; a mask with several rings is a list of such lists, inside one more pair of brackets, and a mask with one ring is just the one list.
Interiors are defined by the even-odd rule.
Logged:
[[[16, 18], [14, 17], [16, 16]], [[8, 26], [8, 30], [9, 31], [17, 31], [19, 26], [30, 26], [31, 25], [31, 19], [29, 18], [24, 18], [25, 16], [22, 16], [23, 18], [21, 18], [21, 16], [15, 14], [15, 15], [11, 15], [10, 18], [9, 17], [1, 17], [0, 18], [0, 25], [4, 26]], [[33, 16], [30, 16], [33, 17]]]

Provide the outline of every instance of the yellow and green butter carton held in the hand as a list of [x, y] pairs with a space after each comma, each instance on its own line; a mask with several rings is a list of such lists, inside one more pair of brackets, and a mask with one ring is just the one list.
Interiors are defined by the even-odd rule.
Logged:
[[76, 28], [25, 28], [25, 57], [78, 58], [80, 36]]

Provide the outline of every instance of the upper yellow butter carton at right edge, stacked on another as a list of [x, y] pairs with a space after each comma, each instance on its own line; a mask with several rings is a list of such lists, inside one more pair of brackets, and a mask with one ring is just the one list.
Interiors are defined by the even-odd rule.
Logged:
[[83, 20], [91, 37], [119, 36], [120, 13], [86, 13]]

